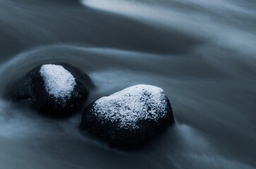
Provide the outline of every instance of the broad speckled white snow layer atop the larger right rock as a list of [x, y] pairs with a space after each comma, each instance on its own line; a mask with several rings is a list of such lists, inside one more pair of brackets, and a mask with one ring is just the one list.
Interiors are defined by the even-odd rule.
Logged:
[[154, 120], [166, 116], [167, 99], [163, 89], [139, 84], [120, 92], [104, 96], [93, 105], [97, 118], [102, 122], [110, 120], [118, 127], [138, 129], [138, 120]]

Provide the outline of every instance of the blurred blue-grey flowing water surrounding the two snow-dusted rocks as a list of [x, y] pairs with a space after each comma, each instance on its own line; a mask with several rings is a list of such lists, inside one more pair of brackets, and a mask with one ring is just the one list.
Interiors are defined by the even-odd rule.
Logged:
[[[83, 3], [82, 3], [83, 2]], [[76, 65], [97, 89], [133, 84], [171, 100], [176, 125], [137, 151], [0, 99], [0, 168], [255, 168], [252, 0], [0, 0], [0, 94], [42, 63]]]

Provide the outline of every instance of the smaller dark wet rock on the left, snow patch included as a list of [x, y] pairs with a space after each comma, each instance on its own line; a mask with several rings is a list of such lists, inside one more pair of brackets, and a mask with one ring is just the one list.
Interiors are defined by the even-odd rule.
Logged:
[[6, 95], [44, 115], [66, 118], [83, 106], [93, 87], [90, 77], [73, 65], [45, 64], [11, 84]]

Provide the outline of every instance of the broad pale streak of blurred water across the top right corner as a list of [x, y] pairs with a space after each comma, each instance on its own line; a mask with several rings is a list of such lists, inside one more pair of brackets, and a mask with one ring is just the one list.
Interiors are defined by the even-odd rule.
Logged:
[[[218, 46], [255, 54], [255, 4], [244, 1], [81, 0], [86, 6], [143, 23], [208, 38]], [[252, 4], [252, 5], [250, 5]], [[249, 6], [249, 8], [248, 8]], [[248, 31], [250, 30], [250, 31]]]

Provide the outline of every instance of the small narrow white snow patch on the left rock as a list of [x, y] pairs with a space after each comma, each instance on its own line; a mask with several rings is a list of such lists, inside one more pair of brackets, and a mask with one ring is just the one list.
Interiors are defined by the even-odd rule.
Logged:
[[47, 92], [54, 96], [55, 101], [65, 106], [66, 99], [71, 98], [76, 85], [75, 77], [61, 65], [42, 65], [39, 72], [44, 79]]

